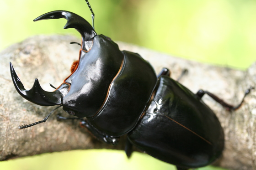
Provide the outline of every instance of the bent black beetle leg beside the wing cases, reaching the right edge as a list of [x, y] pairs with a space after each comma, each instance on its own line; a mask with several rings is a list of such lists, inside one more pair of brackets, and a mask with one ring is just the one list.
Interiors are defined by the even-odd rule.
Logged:
[[216, 95], [214, 95], [213, 93], [210, 93], [210, 92], [208, 92], [208, 91], [199, 90], [196, 95], [197, 95], [199, 98], [202, 98], [204, 94], [208, 94], [208, 95], [209, 95], [211, 98], [213, 98], [216, 102], [218, 102], [218, 103], [221, 104], [224, 108], [226, 108], [227, 110], [230, 111], [230, 110], [236, 110], [236, 109], [240, 108], [240, 106], [241, 106], [242, 103], [244, 102], [245, 96], [251, 92], [251, 89], [254, 89], [254, 88], [253, 88], [253, 87], [250, 87], [250, 88], [248, 88], [248, 89], [245, 91], [245, 95], [244, 95], [242, 101], [241, 101], [237, 106], [233, 106], [233, 105], [231, 105], [231, 104], [228, 104], [228, 103], [224, 102], [222, 99], [218, 98]]

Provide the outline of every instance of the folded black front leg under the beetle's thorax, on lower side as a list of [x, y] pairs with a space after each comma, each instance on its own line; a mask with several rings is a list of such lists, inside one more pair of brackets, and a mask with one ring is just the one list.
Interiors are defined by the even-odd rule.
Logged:
[[80, 122], [80, 125], [87, 128], [91, 132], [91, 134], [93, 134], [97, 139], [100, 139], [101, 141], [106, 142], [107, 144], [117, 145], [119, 142], [120, 137], [113, 138], [108, 135], [100, 134], [90, 124], [88, 124], [86, 120], [82, 120]]

